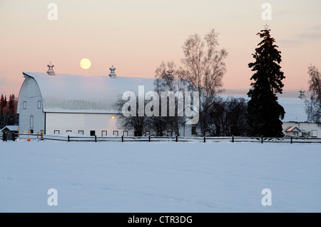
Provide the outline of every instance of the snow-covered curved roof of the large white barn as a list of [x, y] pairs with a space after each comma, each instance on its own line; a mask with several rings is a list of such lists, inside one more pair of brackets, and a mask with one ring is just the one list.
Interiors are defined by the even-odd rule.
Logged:
[[138, 94], [138, 86], [145, 93], [153, 91], [153, 78], [109, 76], [81, 76], [24, 72], [39, 86], [44, 112], [115, 113], [114, 104], [125, 91]]

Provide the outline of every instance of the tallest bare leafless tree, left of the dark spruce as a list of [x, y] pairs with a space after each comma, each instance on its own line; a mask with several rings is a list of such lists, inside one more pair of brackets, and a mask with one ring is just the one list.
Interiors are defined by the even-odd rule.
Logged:
[[183, 52], [184, 78], [200, 92], [200, 108], [203, 114], [200, 114], [199, 126], [205, 135], [204, 115], [208, 114], [207, 109], [213, 105], [215, 95], [223, 91], [222, 79], [226, 72], [224, 60], [228, 51], [218, 49], [218, 33], [212, 29], [204, 39], [198, 34], [189, 36], [183, 44]]

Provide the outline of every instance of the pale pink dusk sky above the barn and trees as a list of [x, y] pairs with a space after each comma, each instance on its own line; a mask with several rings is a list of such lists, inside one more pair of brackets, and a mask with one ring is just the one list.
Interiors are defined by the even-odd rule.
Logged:
[[[58, 6], [50, 21], [49, 3]], [[272, 20], [263, 21], [263, 3]], [[285, 91], [307, 89], [307, 67], [321, 70], [320, 0], [0, 0], [0, 94], [18, 96], [22, 71], [45, 72], [51, 61], [57, 74], [154, 77], [161, 61], [180, 65], [182, 45], [190, 34], [219, 33], [228, 50], [224, 89], [248, 90], [248, 63], [269, 24], [282, 51]], [[81, 69], [83, 58], [90, 69]], [[299, 93], [297, 92], [297, 95]]]

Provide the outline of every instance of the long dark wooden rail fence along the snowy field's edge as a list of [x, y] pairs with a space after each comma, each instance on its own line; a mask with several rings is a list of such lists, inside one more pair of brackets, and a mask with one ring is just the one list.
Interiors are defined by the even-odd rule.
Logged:
[[271, 138], [271, 137], [183, 137], [183, 136], [41, 136], [39, 134], [19, 134], [19, 140], [52, 140], [52, 141], [91, 141], [91, 142], [253, 142], [253, 143], [321, 143], [321, 138]]

